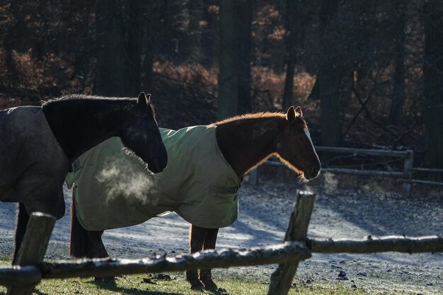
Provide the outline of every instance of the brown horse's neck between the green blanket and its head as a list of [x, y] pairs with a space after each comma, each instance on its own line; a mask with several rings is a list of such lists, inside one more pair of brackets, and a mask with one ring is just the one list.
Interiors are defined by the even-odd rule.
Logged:
[[245, 117], [217, 125], [217, 144], [239, 178], [277, 151], [277, 134], [284, 120]]

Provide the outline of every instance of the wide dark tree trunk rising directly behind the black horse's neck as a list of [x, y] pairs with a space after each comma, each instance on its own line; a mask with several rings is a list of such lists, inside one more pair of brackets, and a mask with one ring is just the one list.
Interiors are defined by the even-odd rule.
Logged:
[[94, 93], [100, 96], [128, 96], [130, 82], [127, 45], [120, 1], [99, 0], [96, 6], [98, 52]]

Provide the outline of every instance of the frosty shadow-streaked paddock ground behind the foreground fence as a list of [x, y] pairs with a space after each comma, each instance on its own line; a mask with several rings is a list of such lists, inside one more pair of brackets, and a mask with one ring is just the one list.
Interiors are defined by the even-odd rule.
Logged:
[[[272, 174], [272, 173], [271, 173]], [[297, 178], [260, 177], [257, 186], [243, 181], [238, 221], [221, 229], [217, 248], [245, 248], [281, 243], [297, 189], [316, 192], [309, 226], [315, 238], [364, 238], [365, 236], [427, 236], [443, 234], [443, 199], [438, 191], [386, 190], [379, 179], [372, 183], [334, 175], [301, 185]], [[57, 221], [47, 258], [67, 258], [69, 241], [69, 190], [65, 187], [67, 214]], [[0, 206], [0, 255], [10, 255], [14, 204]], [[188, 249], [188, 224], [176, 214], [158, 217], [139, 226], [106, 231], [104, 242], [113, 258], [140, 258], [151, 253], [168, 255]], [[275, 265], [215, 270], [217, 278], [241, 277], [269, 282]], [[348, 280], [338, 279], [340, 271]], [[178, 274], [183, 275], [183, 274]], [[369, 293], [443, 294], [442, 253], [379, 253], [372, 255], [313, 254], [301, 262], [295, 284], [349, 284]]]

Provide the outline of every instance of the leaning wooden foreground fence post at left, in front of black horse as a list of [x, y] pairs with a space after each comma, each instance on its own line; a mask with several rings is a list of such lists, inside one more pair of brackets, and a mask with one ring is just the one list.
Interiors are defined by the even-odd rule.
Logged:
[[[54, 228], [55, 217], [50, 214], [33, 212], [28, 221], [23, 242], [18, 250], [17, 265], [36, 265], [42, 262], [45, 257], [47, 244], [50, 241], [52, 229]], [[34, 287], [40, 282], [40, 278], [35, 282], [23, 285], [12, 285], [8, 287], [8, 295], [30, 295]]]

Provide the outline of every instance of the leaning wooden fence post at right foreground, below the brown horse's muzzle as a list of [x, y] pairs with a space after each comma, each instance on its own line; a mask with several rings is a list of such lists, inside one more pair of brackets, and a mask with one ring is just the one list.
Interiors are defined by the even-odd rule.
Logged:
[[[316, 195], [312, 192], [297, 192], [297, 199], [289, 219], [284, 241], [301, 241], [301, 243], [305, 243], [315, 199]], [[298, 266], [298, 261], [280, 264], [277, 270], [272, 273], [267, 295], [286, 295], [291, 287], [292, 279]]]

